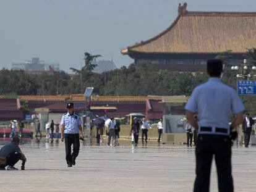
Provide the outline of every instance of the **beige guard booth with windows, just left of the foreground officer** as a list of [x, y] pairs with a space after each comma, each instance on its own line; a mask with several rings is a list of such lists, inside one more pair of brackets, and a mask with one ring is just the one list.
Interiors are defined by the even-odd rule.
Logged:
[[182, 121], [186, 117], [185, 106], [188, 97], [163, 96], [163, 137], [161, 143], [181, 144], [186, 142], [186, 122]]

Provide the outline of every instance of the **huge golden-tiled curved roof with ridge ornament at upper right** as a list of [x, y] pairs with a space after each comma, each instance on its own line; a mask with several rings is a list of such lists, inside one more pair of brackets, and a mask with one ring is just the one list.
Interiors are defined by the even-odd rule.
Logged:
[[198, 12], [179, 6], [162, 33], [121, 50], [122, 54], [243, 54], [256, 47], [256, 12]]

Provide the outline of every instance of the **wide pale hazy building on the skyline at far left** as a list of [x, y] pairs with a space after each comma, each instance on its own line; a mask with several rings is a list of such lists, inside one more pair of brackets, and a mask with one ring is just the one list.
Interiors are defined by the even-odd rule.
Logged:
[[12, 70], [24, 70], [28, 74], [52, 73], [53, 71], [59, 71], [59, 64], [48, 64], [40, 61], [39, 57], [33, 57], [32, 61], [13, 63]]

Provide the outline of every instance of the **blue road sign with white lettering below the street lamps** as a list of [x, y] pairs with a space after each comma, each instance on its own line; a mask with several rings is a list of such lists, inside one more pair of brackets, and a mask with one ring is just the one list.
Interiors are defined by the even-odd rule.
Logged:
[[256, 94], [256, 81], [237, 81], [237, 94], [239, 95]]

